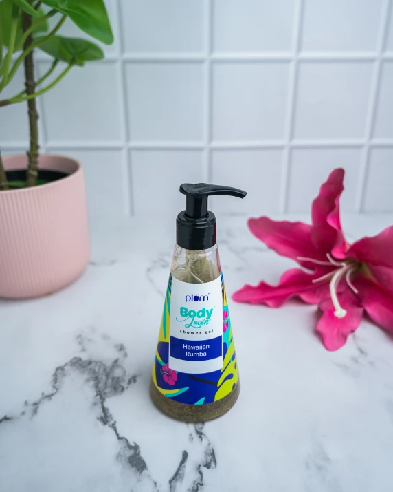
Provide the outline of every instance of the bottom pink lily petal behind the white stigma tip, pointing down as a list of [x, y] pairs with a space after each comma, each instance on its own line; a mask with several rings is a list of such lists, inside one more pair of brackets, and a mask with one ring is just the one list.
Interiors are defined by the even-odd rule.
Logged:
[[335, 316], [335, 307], [331, 299], [319, 304], [319, 309], [323, 314], [317, 323], [317, 332], [322, 335], [322, 340], [328, 350], [337, 350], [345, 345], [348, 335], [355, 332], [363, 316], [363, 308], [352, 291], [344, 290], [338, 298], [339, 303], [346, 310], [344, 318]]

